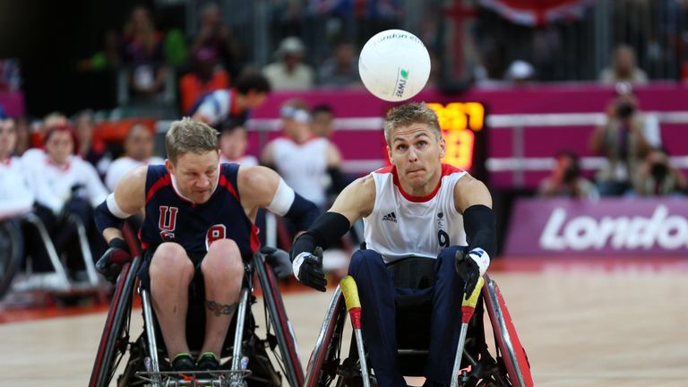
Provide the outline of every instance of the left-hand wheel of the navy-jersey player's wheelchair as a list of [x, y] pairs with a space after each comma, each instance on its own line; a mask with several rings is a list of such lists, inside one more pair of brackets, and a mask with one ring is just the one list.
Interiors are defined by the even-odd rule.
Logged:
[[107, 312], [107, 320], [93, 371], [90, 374], [90, 387], [106, 387], [113, 379], [117, 366], [125, 356], [129, 343], [129, 323], [131, 320], [133, 289], [142, 259], [135, 257], [125, 265], [116, 283], [115, 294]]

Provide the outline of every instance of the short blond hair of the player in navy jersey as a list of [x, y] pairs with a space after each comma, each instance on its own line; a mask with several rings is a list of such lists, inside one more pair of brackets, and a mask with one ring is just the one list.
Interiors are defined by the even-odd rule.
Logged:
[[202, 154], [218, 150], [218, 131], [207, 124], [184, 117], [170, 125], [165, 135], [165, 149], [173, 164], [185, 153]]

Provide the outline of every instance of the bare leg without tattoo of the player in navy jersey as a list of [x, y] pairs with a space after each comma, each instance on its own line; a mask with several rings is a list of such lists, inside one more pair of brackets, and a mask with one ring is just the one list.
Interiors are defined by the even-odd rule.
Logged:
[[193, 262], [176, 243], [159, 245], [150, 262], [150, 300], [158, 317], [170, 360], [189, 352], [186, 343], [186, 311]]

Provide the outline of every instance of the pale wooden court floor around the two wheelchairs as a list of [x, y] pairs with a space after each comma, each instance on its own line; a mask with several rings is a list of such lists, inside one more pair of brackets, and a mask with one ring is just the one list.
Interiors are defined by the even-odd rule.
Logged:
[[[536, 385], [688, 386], [688, 271], [491, 276], [502, 288]], [[285, 296], [304, 364], [331, 294]], [[0, 324], [2, 385], [85, 385], [104, 319], [99, 313]]]

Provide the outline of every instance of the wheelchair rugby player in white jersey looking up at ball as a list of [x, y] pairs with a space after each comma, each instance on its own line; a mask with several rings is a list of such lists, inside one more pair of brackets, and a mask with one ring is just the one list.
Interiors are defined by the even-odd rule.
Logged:
[[[495, 256], [492, 197], [482, 182], [443, 164], [445, 144], [434, 111], [423, 103], [392, 108], [384, 121], [391, 167], [348, 185], [330, 211], [291, 250], [294, 274], [324, 291], [322, 248], [364, 220], [366, 249], [348, 272], [361, 301], [363, 337], [377, 384], [406, 386], [397, 356], [395, 300], [409, 292], [432, 299], [426, 385], [449, 385], [459, 341], [461, 299], [471, 294]], [[388, 266], [409, 257], [432, 259], [434, 284], [402, 288]]]

